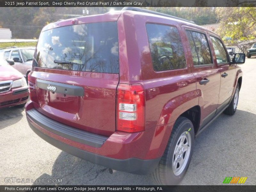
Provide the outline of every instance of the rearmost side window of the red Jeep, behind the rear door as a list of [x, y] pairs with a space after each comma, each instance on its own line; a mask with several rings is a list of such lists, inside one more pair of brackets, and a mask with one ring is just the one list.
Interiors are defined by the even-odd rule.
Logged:
[[186, 68], [186, 59], [178, 29], [159, 24], [146, 24], [146, 28], [154, 70]]

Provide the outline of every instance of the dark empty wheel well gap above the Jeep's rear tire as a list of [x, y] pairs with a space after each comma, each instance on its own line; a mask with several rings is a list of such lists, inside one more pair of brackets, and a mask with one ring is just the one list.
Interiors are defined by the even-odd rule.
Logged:
[[200, 124], [200, 116], [201, 116], [200, 107], [198, 105], [194, 106], [188, 109], [187, 111], [185, 111], [184, 113], [182, 113], [180, 116], [188, 118], [193, 123], [194, 131], [196, 135], [196, 132], [198, 131], [199, 124]]

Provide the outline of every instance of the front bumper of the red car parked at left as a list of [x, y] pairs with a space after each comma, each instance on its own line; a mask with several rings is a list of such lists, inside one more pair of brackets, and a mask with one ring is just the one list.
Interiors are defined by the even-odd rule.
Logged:
[[28, 86], [11, 89], [0, 94], [0, 108], [12, 107], [26, 103], [28, 100]]

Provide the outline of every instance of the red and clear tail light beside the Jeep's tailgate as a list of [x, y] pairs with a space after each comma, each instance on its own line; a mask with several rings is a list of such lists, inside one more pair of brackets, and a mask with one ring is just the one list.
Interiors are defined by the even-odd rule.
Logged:
[[145, 91], [141, 84], [119, 84], [117, 87], [117, 131], [145, 130]]

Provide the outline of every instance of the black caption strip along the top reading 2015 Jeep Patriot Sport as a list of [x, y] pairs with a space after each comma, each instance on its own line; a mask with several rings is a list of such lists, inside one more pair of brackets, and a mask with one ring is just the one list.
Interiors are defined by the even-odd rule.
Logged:
[[255, 0], [5, 0], [0, 2], [0, 7], [255, 7], [255, 5]]

